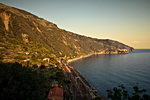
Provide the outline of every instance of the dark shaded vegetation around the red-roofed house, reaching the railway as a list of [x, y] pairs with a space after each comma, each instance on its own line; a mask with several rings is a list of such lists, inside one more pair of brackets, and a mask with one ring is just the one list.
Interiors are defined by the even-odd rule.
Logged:
[[70, 81], [64, 71], [58, 68], [31, 69], [19, 63], [0, 63], [0, 98], [2, 100], [46, 100], [50, 83], [58, 81], [63, 87], [65, 98], [73, 98]]

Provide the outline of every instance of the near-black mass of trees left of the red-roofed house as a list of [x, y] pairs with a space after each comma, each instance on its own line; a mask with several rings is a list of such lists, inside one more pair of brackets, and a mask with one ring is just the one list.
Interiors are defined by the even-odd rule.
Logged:
[[47, 79], [42, 73], [22, 67], [19, 63], [0, 62], [1, 100], [44, 100]]

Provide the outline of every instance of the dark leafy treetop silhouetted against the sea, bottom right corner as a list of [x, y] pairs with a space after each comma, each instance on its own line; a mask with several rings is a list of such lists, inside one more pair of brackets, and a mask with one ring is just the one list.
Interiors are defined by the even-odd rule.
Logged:
[[146, 94], [147, 90], [139, 90], [137, 85], [133, 87], [134, 93], [132, 93], [132, 96], [129, 96], [123, 84], [118, 87], [114, 87], [113, 91], [106, 90], [108, 92], [107, 97], [111, 100], [150, 100], [150, 96]]

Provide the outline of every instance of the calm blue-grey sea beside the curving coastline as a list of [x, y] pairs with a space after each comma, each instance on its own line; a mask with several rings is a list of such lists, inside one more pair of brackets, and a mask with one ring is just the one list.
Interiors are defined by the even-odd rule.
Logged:
[[133, 92], [137, 85], [150, 95], [150, 49], [136, 49], [129, 54], [93, 55], [70, 63], [80, 71], [99, 94], [107, 98], [107, 89], [124, 84]]

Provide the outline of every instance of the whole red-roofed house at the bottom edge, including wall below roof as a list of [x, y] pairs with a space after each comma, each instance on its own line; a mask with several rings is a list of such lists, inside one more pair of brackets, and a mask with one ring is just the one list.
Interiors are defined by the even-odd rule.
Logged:
[[48, 100], [63, 100], [63, 89], [55, 87], [49, 91]]

